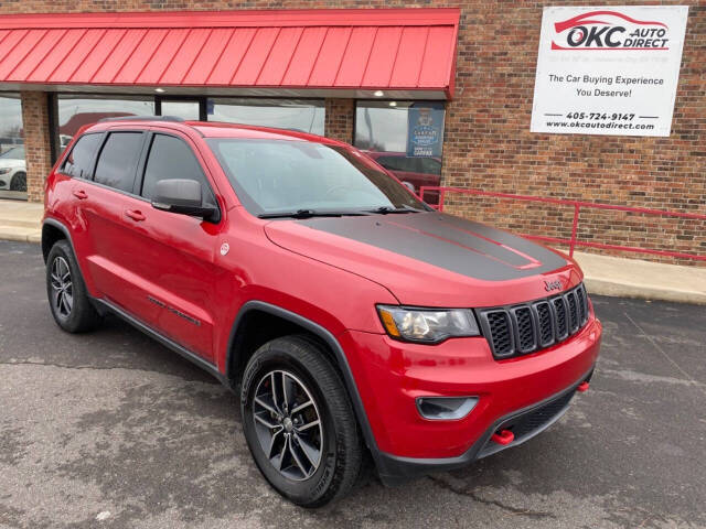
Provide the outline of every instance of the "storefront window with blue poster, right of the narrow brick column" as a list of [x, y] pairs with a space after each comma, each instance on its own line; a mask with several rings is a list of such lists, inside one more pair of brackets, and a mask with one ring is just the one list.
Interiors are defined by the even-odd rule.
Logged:
[[357, 101], [354, 143], [419, 192], [441, 182], [443, 118], [439, 101]]

